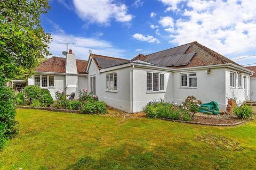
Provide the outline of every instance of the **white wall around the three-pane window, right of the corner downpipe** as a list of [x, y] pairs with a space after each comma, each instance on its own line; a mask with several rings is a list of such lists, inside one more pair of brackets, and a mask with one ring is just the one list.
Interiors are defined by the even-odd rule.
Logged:
[[[147, 72], [165, 73], [165, 91], [147, 92]], [[134, 67], [133, 70], [133, 112], [142, 111], [149, 101], [163, 98], [173, 101], [172, 72]]]

